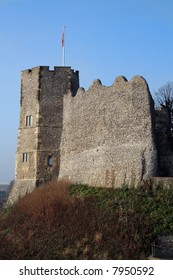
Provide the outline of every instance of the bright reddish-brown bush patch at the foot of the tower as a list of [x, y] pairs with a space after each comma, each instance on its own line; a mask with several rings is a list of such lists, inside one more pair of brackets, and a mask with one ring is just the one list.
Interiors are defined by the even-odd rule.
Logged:
[[15, 210], [32, 217], [35, 221], [44, 220], [49, 224], [54, 220], [57, 210], [62, 211], [72, 202], [69, 186], [68, 181], [50, 181], [28, 193], [18, 202]]

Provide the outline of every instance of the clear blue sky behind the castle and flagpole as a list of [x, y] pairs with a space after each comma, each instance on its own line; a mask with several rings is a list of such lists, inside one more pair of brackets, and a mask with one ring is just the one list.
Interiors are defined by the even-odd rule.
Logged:
[[143, 76], [153, 94], [173, 81], [172, 0], [0, 0], [0, 182], [14, 178], [20, 72], [66, 66], [87, 89]]

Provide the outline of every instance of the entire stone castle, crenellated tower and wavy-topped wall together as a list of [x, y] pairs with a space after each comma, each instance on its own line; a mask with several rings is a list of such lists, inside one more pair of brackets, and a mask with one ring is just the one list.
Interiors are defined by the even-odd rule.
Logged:
[[15, 183], [9, 203], [53, 179], [99, 187], [173, 176], [169, 116], [147, 82], [123, 76], [79, 87], [70, 67], [22, 71]]

